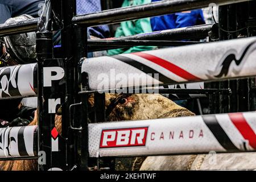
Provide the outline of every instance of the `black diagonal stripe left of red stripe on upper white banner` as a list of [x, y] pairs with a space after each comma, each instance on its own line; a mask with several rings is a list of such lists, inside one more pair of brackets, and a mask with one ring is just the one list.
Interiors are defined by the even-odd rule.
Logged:
[[136, 60], [133, 60], [129, 57], [126, 56], [121, 56], [121, 55], [114, 55], [111, 56], [114, 59], [117, 59], [119, 61], [122, 61], [123, 63], [129, 64], [134, 68], [139, 69], [140, 71], [147, 73], [147, 74], [158, 74], [159, 75], [159, 81], [163, 82], [164, 84], [172, 84], [175, 83], [176, 81], [162, 75], [161, 73], [159, 73], [158, 71], [156, 71], [155, 69], [152, 69], [150, 67], [148, 67], [147, 65], [144, 65], [142, 63], [139, 63]]

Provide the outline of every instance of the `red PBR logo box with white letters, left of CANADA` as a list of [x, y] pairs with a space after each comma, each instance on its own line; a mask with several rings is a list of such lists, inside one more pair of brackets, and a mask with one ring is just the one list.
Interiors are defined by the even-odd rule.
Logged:
[[148, 127], [102, 130], [100, 148], [145, 146]]

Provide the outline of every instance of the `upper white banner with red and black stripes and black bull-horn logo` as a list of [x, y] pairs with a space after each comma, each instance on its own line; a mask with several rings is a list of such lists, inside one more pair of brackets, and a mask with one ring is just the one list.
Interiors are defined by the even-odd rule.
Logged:
[[[255, 76], [256, 39], [245, 38], [85, 59], [89, 89]], [[134, 81], [135, 80], [135, 81]]]

